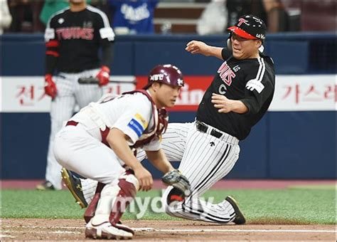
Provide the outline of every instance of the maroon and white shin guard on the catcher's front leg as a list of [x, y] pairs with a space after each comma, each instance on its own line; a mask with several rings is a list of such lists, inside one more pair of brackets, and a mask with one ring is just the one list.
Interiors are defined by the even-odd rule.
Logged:
[[112, 203], [112, 211], [109, 216], [109, 221], [112, 225], [117, 224], [119, 219], [124, 214], [127, 206], [132, 202], [139, 189], [139, 181], [137, 177], [132, 174], [132, 172], [124, 172], [121, 177], [119, 177], [118, 184], [119, 191]]

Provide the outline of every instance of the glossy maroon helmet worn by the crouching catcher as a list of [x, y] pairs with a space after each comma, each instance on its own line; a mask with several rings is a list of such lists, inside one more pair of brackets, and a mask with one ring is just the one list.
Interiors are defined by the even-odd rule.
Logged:
[[176, 65], [156, 65], [149, 73], [148, 83], [143, 89], [149, 88], [154, 82], [183, 87], [183, 73]]

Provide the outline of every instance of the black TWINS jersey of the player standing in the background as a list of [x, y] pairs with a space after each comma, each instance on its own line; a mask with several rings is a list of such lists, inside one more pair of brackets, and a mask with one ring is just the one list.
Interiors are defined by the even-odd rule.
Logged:
[[100, 67], [99, 48], [114, 41], [114, 32], [100, 9], [87, 6], [83, 11], [73, 12], [66, 8], [48, 21], [45, 40], [46, 55], [57, 58], [55, 66], [47, 66], [47, 73], [54, 68], [79, 73]]

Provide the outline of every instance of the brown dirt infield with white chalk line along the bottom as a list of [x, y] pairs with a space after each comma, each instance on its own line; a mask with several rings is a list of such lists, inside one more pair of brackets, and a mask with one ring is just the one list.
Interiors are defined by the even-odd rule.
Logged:
[[[124, 221], [135, 229], [134, 240], [336, 241], [334, 225], [217, 225], [196, 221]], [[3, 219], [1, 241], [80, 241], [80, 219]]]

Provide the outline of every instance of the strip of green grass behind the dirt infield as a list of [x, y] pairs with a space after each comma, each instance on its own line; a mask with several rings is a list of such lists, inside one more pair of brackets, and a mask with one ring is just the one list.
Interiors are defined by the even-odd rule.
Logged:
[[[160, 196], [160, 190], [139, 192], [146, 196]], [[210, 190], [205, 199], [213, 196], [215, 202], [232, 195], [250, 223], [336, 224], [336, 189], [242, 189]], [[153, 200], [150, 200], [153, 201]], [[159, 207], [160, 203], [157, 204]], [[135, 206], [137, 207], [137, 206]], [[149, 208], [149, 206], [148, 206]], [[75, 204], [69, 191], [2, 190], [1, 218], [58, 218], [80, 219], [84, 209]], [[137, 219], [127, 211], [124, 219]], [[141, 219], [177, 220], [164, 213], [146, 209]]]

